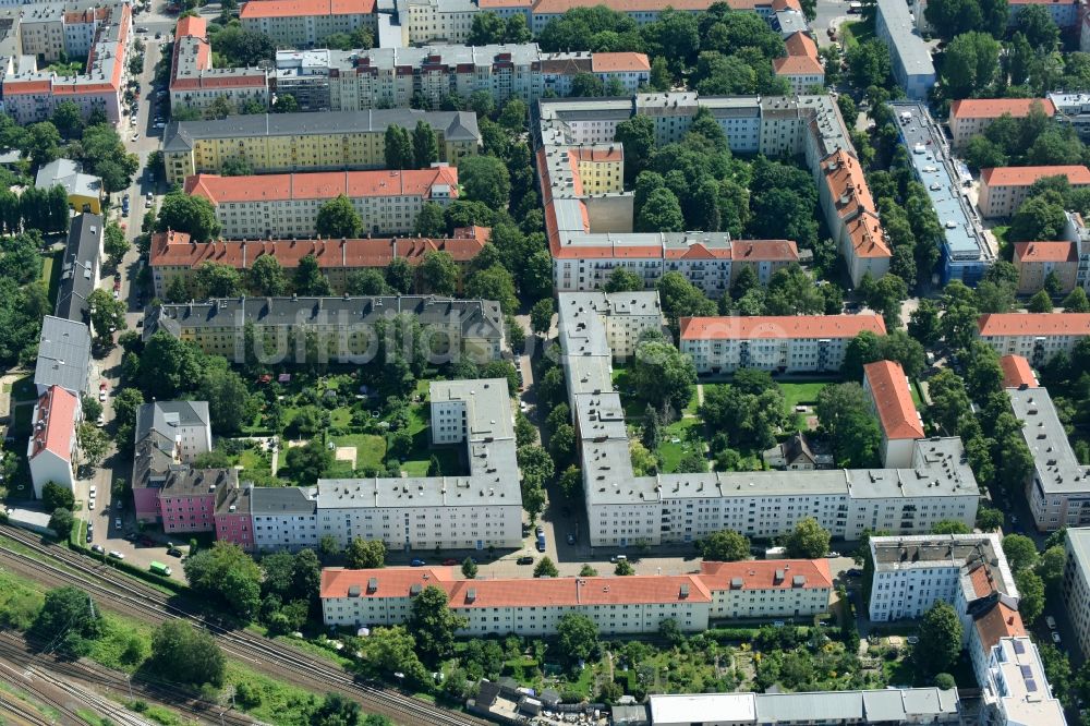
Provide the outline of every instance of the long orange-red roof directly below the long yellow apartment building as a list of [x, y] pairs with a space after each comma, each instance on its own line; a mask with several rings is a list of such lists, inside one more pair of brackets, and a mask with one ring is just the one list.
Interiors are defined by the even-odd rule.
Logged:
[[318, 171], [251, 177], [194, 174], [185, 180], [185, 193], [203, 196], [213, 205], [228, 202], [329, 199], [338, 194], [349, 198], [364, 196], [428, 198], [435, 184], [450, 186], [451, 196], [458, 196], [458, 169], [436, 167], [407, 171]]

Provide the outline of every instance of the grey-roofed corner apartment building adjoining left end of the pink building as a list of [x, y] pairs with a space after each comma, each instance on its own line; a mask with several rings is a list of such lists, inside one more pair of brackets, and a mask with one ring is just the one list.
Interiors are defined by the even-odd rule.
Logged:
[[[179, 477], [174, 491], [191, 491], [185, 482], [190, 464], [211, 451], [211, 423], [207, 401], [155, 401], [136, 410], [135, 456], [133, 458], [133, 500], [137, 522], [164, 522], [159, 491], [172, 475]], [[214, 470], [206, 470], [214, 471]], [[191, 498], [193, 495], [180, 495]], [[187, 504], [171, 504], [171, 516], [181, 524]], [[186, 510], [174, 510], [174, 507]], [[194, 505], [196, 507], [196, 505]], [[196, 508], [194, 508], [194, 513]]]

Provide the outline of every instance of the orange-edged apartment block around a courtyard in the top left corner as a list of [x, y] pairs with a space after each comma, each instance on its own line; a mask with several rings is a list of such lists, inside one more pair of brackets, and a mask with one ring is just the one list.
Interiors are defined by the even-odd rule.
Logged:
[[[49, 119], [61, 101], [74, 102], [84, 118], [98, 110], [110, 123], [121, 120], [133, 36], [128, 2], [36, 2], [2, 15], [17, 26], [21, 45], [0, 84], [4, 110], [20, 124]], [[38, 62], [62, 56], [86, 57], [85, 71], [60, 76], [45, 66], [39, 70]]]

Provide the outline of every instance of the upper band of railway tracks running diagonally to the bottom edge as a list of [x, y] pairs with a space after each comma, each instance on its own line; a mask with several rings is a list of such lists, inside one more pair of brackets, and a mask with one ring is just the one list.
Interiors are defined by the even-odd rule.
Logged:
[[395, 723], [404, 726], [483, 726], [488, 723], [397, 691], [361, 682], [341, 668], [282, 643], [275, 643], [244, 630], [223, 628], [190, 609], [184, 602], [171, 602], [155, 588], [133, 580], [98, 560], [60, 546], [43, 545], [35, 535], [22, 530], [0, 525], [0, 534], [80, 572], [77, 574], [70, 569], [43, 562], [40, 558], [8, 546], [0, 540], [0, 557], [24, 565], [33, 564], [35, 576], [39, 579], [77, 584], [104, 601], [104, 605], [109, 604], [113, 609], [145, 620], [189, 620], [215, 636], [229, 655], [278, 679], [316, 693], [338, 691], [356, 700], [365, 710], [389, 716]]

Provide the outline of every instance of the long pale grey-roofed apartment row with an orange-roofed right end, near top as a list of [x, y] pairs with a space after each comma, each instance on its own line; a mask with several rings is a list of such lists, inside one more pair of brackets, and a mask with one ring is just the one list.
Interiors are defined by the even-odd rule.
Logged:
[[448, 97], [487, 92], [497, 104], [531, 104], [547, 92], [567, 96], [571, 81], [591, 73], [603, 84], [635, 93], [651, 77], [644, 53], [543, 53], [536, 44], [281, 50], [278, 94], [291, 94], [303, 110], [353, 111], [409, 108], [426, 100], [438, 108]]

